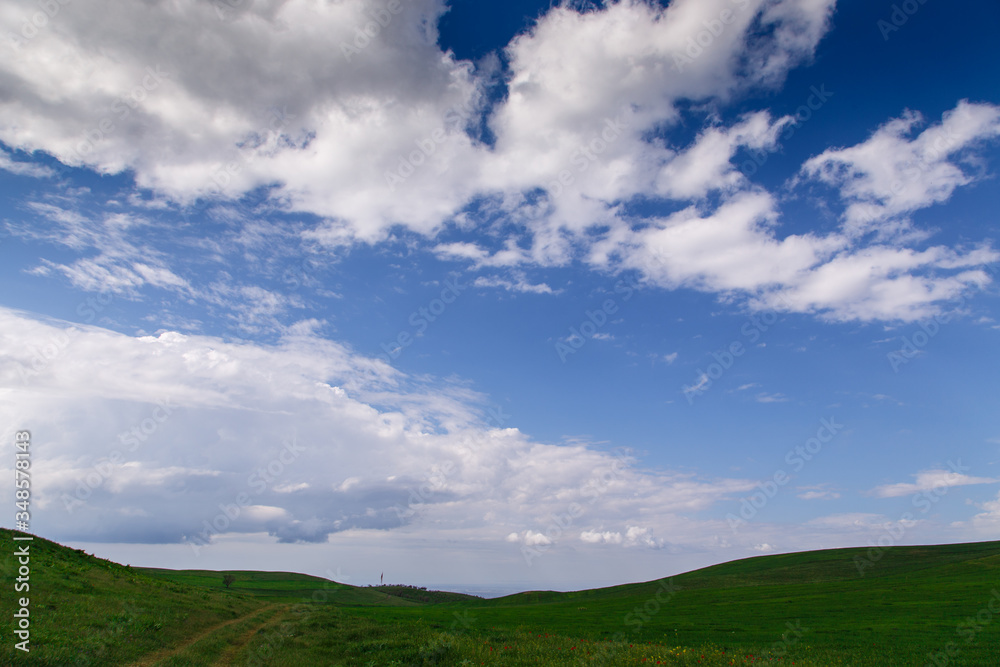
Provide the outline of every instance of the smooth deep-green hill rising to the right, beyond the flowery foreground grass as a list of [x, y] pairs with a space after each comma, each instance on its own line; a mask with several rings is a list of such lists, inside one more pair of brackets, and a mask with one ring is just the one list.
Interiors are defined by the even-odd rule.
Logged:
[[[419, 617], [463, 639], [516, 630], [536, 638], [715, 646], [758, 657], [777, 648], [796, 664], [924, 665], [928, 654], [954, 642], [960, 650], [948, 665], [1000, 665], [1000, 614], [959, 634], [966, 619], [984, 609], [980, 618], [992, 615], [1000, 543], [895, 547], [862, 577], [854, 558], [867, 555], [840, 549], [763, 556], [670, 580], [522, 593], [464, 607], [474, 619], [464, 632], [452, 628], [446, 610], [421, 610]], [[1000, 599], [993, 604], [1000, 609]], [[355, 613], [372, 622], [417, 615]]]

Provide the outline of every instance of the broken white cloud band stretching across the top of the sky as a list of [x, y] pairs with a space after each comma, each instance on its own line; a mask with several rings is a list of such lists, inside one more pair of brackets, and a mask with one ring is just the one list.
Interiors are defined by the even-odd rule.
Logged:
[[[584, 259], [839, 320], [934, 314], [988, 282], [979, 267], [1000, 258], [985, 246], [914, 249], [927, 233], [906, 220], [978, 178], [961, 160], [1000, 132], [994, 106], [961, 102], [914, 138], [921, 119], [908, 113], [807, 161], [798, 184], [833, 186], [847, 206], [825, 235], [783, 235], [782, 202], [734, 165], [740, 150], [776, 148], [789, 118], [758, 110], [726, 125], [709, 113], [690, 142], [662, 138], [682, 102], [724, 107], [749, 86], [779, 85], [812, 56], [834, 0], [558, 6], [507, 46], [505, 64], [441, 52], [443, 0], [402, 3], [379, 14], [384, 26], [374, 0], [256, 2], [221, 15], [216, 5], [71, 3], [30, 38], [12, 31], [0, 46], [10, 93], [0, 140], [101, 173], [132, 170], [178, 202], [269, 188], [276, 205], [320, 218], [299, 233], [327, 247], [398, 226], [433, 243], [443, 229], [471, 230], [466, 208], [478, 205], [509, 223], [503, 248], [452, 241], [440, 255], [477, 267]], [[7, 2], [0, 20], [16, 27], [32, 11]], [[377, 35], [359, 37], [371, 26]], [[632, 200], [682, 209], [637, 220], [624, 212]], [[108, 253], [46, 268], [91, 288], [185, 281]], [[227, 289], [243, 287], [217, 297]], [[242, 319], [255, 327], [267, 315]]]

